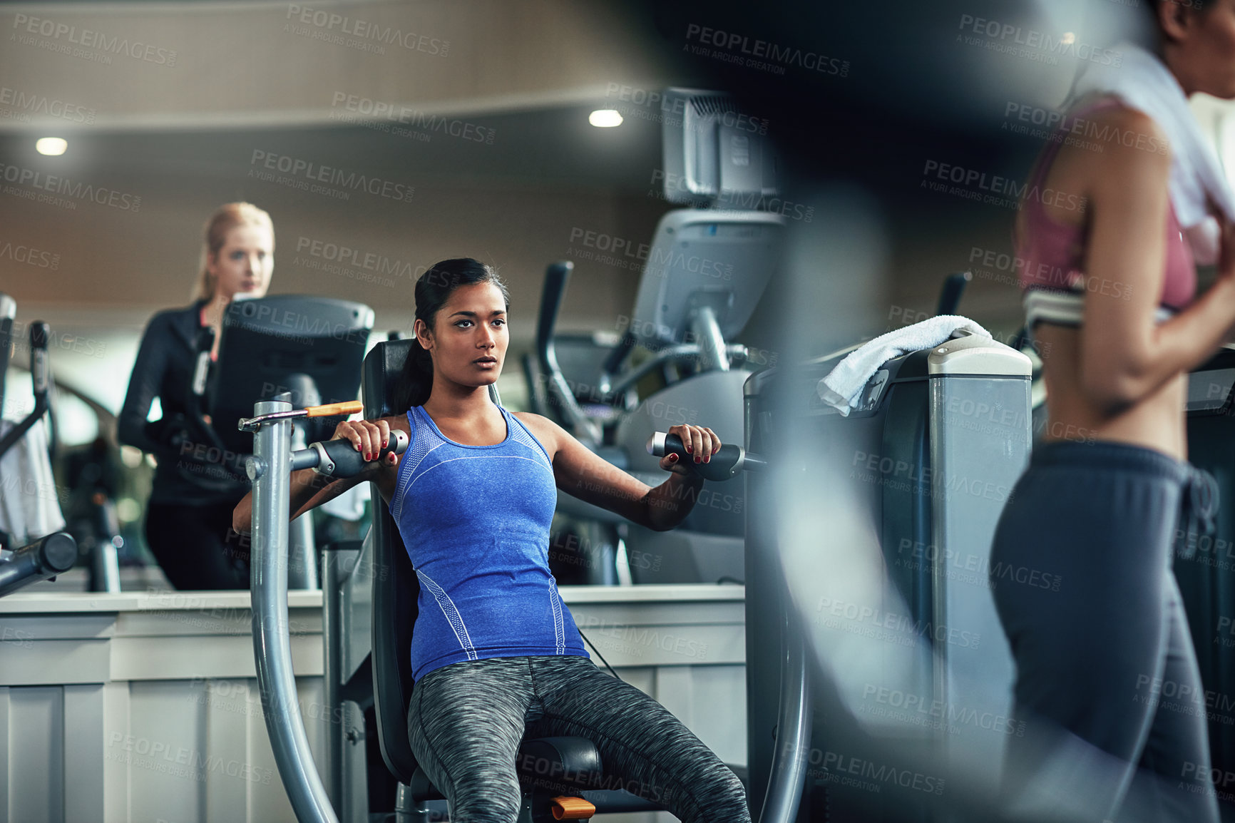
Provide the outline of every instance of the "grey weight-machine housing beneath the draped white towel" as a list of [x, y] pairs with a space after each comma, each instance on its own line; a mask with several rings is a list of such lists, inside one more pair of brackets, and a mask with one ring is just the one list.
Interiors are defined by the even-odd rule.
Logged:
[[879, 365], [841, 415], [820, 388], [844, 353], [746, 383], [746, 446], [776, 467], [746, 487], [752, 804], [804, 770], [798, 821], [988, 819], [940, 795], [998, 785], [1016, 730], [990, 587], [1018, 583], [989, 555], [1029, 458], [1030, 362], [960, 332]]

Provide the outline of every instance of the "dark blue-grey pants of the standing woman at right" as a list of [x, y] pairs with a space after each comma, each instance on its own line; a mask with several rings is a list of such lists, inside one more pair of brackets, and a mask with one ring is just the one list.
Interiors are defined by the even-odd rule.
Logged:
[[1005, 790], [1030, 819], [1216, 823], [1205, 697], [1171, 571], [1177, 524], [1210, 528], [1215, 492], [1204, 472], [1139, 446], [1035, 449], [990, 554], [1014, 717], [1032, 732], [1009, 738]]

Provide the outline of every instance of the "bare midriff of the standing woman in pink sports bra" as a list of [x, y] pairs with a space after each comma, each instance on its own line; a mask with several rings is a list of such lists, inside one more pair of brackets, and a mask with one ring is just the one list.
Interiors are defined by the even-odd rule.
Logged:
[[1091, 442], [1110, 440], [1161, 451], [1176, 460], [1188, 458], [1184, 403], [1187, 374], [1177, 374], [1153, 394], [1115, 415], [1095, 409], [1081, 386], [1081, 331], [1040, 323], [1034, 329], [1042, 353], [1049, 420], [1044, 441]]

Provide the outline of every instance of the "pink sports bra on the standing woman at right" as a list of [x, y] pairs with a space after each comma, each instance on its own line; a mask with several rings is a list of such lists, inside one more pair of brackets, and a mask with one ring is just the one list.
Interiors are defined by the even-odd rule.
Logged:
[[[1126, 283], [1095, 283], [1087, 281], [1082, 266], [1088, 225], [1070, 226], [1046, 214], [1042, 180], [1063, 145], [1072, 124], [1082, 115], [1100, 109], [1121, 105], [1107, 99], [1083, 106], [1065, 117], [1042, 152], [1037, 168], [1030, 178], [1029, 193], [1021, 205], [1024, 231], [1016, 238], [1016, 257], [1021, 261], [1020, 287], [1024, 293], [1026, 325], [1039, 321], [1061, 325], [1079, 325], [1087, 289], [1102, 289], [1112, 297], [1129, 294]], [[1166, 217], [1166, 278], [1158, 298], [1158, 321], [1187, 306], [1197, 292], [1197, 268], [1192, 248], [1183, 238], [1174, 206], [1168, 206]]]

